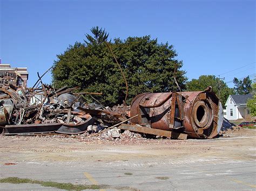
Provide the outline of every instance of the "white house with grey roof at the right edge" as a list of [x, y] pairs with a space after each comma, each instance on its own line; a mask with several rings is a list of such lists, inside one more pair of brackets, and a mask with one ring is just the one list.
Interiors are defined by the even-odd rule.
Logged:
[[250, 111], [246, 106], [252, 94], [246, 95], [230, 95], [225, 103], [224, 117], [228, 120], [237, 120], [250, 117]]

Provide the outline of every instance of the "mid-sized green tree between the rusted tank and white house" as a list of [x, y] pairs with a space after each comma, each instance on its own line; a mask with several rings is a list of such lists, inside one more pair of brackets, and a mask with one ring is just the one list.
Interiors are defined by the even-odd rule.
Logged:
[[223, 80], [219, 80], [214, 75], [201, 75], [198, 79], [192, 79], [186, 83], [187, 91], [203, 91], [208, 86], [211, 86], [214, 93], [218, 96], [220, 91], [220, 101], [225, 104], [229, 95], [234, 94], [232, 88], [228, 88]]

